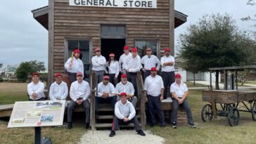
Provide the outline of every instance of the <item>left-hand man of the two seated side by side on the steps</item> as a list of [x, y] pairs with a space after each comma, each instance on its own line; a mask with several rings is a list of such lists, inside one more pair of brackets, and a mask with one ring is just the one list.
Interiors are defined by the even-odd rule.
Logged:
[[113, 110], [115, 110], [115, 103], [117, 98], [115, 96], [115, 87], [109, 82], [109, 77], [104, 76], [103, 81], [98, 84], [98, 89], [95, 98], [95, 115], [98, 117], [98, 104], [111, 103]]

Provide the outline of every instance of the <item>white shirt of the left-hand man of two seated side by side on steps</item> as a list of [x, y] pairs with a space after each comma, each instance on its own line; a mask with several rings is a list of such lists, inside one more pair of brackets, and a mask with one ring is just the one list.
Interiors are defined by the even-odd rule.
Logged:
[[108, 82], [107, 85], [103, 84], [101, 81], [98, 83], [98, 95], [97, 97], [101, 97], [103, 93], [109, 93], [109, 97], [115, 96], [115, 94], [110, 94], [110, 93], [115, 93], [115, 86]]

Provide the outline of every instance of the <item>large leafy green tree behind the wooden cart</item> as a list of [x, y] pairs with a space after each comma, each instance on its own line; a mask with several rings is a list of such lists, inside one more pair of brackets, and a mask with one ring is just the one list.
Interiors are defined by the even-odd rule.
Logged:
[[[185, 70], [192, 72], [239, 65], [245, 63], [248, 56], [239, 43], [241, 37], [246, 38], [228, 14], [203, 15], [198, 23], [188, 26], [187, 32], [180, 35], [179, 57], [186, 65]], [[215, 75], [216, 89], [219, 89], [219, 71]]]

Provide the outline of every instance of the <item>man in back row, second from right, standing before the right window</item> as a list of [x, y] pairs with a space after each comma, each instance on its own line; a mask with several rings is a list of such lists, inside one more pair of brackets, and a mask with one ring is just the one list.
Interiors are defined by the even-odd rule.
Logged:
[[155, 55], [152, 55], [152, 49], [146, 48], [147, 55], [141, 58], [141, 65], [143, 66], [143, 81], [146, 77], [151, 75], [151, 67], [156, 67], [157, 70], [160, 68], [160, 60]]

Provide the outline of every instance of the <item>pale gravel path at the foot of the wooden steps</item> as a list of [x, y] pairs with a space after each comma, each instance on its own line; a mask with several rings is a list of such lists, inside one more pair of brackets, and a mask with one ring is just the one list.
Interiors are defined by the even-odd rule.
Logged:
[[146, 136], [139, 136], [134, 130], [115, 131], [116, 135], [110, 138], [110, 131], [87, 131], [80, 139], [81, 144], [161, 144], [164, 138], [155, 136], [151, 131], [144, 131]]

